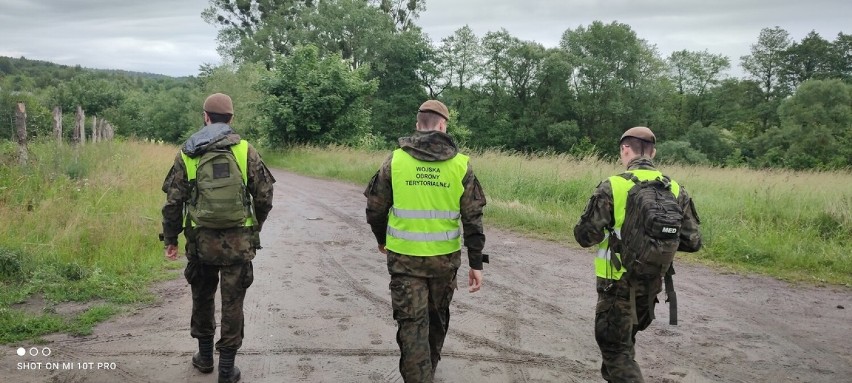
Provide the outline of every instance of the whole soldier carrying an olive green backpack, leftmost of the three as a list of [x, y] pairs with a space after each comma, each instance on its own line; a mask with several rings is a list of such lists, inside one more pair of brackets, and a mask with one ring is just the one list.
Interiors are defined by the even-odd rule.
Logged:
[[[192, 287], [190, 334], [198, 339], [192, 365], [203, 373], [213, 371], [214, 296], [221, 275], [222, 318], [216, 342], [219, 382], [236, 382], [240, 370], [234, 359], [243, 342], [243, 300], [254, 280], [251, 261], [272, 209], [275, 179], [254, 147], [231, 129], [234, 107], [229, 96], [210, 95], [203, 108], [205, 126], [184, 143], [163, 182], [162, 239], [166, 258], [176, 260], [178, 234], [183, 231], [186, 237], [184, 276]], [[229, 179], [235, 180], [231, 187], [237, 191], [228, 196], [233, 203], [217, 204], [215, 198], [207, 198], [208, 193], [219, 193], [208, 191], [208, 182]], [[223, 223], [222, 217], [230, 223]]]

